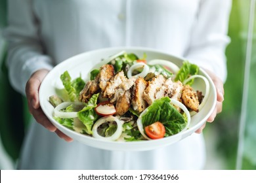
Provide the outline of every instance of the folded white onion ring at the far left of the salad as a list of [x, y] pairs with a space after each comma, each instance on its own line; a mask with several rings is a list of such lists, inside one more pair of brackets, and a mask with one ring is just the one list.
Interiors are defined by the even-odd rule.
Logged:
[[83, 103], [79, 103], [79, 102], [64, 102], [64, 103], [61, 103], [60, 105], [57, 105], [54, 108], [54, 116], [59, 117], [59, 118], [77, 118], [77, 112], [62, 112], [62, 111], [60, 111], [70, 105], [84, 106]]

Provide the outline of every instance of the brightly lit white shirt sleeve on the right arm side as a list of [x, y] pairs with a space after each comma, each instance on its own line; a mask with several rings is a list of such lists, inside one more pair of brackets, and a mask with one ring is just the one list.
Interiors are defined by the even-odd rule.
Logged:
[[185, 58], [226, 80], [226, 45], [230, 0], [202, 0]]

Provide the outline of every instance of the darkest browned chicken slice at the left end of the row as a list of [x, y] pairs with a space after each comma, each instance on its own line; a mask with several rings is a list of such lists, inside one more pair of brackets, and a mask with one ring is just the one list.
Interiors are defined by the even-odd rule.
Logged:
[[95, 80], [90, 80], [85, 84], [85, 87], [79, 93], [79, 100], [87, 103], [91, 96], [96, 93], [100, 88], [98, 87], [98, 78], [100, 75], [97, 75]]

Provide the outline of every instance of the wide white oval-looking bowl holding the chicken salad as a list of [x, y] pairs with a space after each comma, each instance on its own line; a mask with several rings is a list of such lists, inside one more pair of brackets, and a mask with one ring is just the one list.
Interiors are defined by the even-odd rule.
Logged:
[[[79, 54], [72, 58], [66, 59], [62, 63], [56, 65], [53, 70], [45, 77], [43, 80], [40, 90], [39, 90], [39, 102], [43, 112], [53, 124], [60, 129], [63, 133], [74, 139], [75, 141], [79, 141], [83, 144], [87, 144], [89, 146], [93, 146], [95, 148], [102, 148], [105, 150], [125, 150], [125, 151], [135, 151], [135, 150], [152, 150], [155, 148], [160, 148], [162, 146], [167, 146], [169, 144], [173, 144], [175, 142], [181, 141], [194, 133], [199, 127], [201, 127], [213, 112], [217, 95], [215, 92], [215, 86], [213, 85], [212, 80], [209, 76], [200, 69], [199, 75], [203, 75], [209, 80], [209, 98], [207, 99], [207, 103], [202, 108], [198, 114], [192, 116], [191, 123], [189, 129], [186, 131], [182, 131], [176, 135], [171, 137], [166, 137], [163, 139], [152, 140], [152, 141], [138, 141], [138, 142], [109, 142], [100, 139], [95, 139], [93, 137], [89, 137], [87, 135], [83, 135], [60, 125], [53, 118], [53, 106], [49, 103], [49, 96], [56, 95], [58, 88], [63, 88], [62, 83], [60, 81], [60, 75], [64, 73], [64, 71], [68, 71], [72, 78], [78, 77], [80, 74], [82, 78], [88, 78], [89, 73], [96, 64], [98, 64], [102, 59], [108, 58], [118, 52], [125, 50], [127, 53], [135, 53], [137, 56], [142, 57], [144, 53], [146, 53], [147, 60], [150, 59], [167, 59], [177, 64], [179, 67], [182, 65], [183, 58], [178, 58], [175, 56], [171, 56], [170, 54], [166, 54], [163, 52], [159, 52], [158, 50], [152, 50], [148, 48], [106, 48], [101, 50], [95, 50], [91, 52], [85, 52], [83, 54]], [[205, 91], [205, 84], [200, 78], [196, 79], [193, 85], [193, 88], [196, 90]]]

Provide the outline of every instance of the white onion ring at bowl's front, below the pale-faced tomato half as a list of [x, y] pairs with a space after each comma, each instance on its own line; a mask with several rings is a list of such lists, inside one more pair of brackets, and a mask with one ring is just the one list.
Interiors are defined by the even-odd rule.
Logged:
[[[111, 137], [102, 137], [101, 135], [98, 135], [98, 127], [107, 122], [116, 122], [117, 129]], [[102, 139], [105, 141], [116, 141], [121, 136], [121, 133], [123, 131], [123, 122], [121, 122], [114, 116], [104, 116], [100, 118], [98, 121], [96, 121], [95, 125], [93, 125], [92, 131], [93, 137], [95, 137], [96, 139]]]

